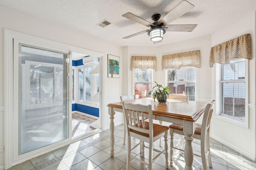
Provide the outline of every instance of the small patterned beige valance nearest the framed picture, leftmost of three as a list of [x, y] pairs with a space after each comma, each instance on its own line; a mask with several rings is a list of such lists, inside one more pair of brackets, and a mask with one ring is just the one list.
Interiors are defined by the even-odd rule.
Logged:
[[131, 70], [139, 68], [140, 70], [147, 70], [152, 68], [156, 70], [156, 57], [148, 56], [132, 56]]

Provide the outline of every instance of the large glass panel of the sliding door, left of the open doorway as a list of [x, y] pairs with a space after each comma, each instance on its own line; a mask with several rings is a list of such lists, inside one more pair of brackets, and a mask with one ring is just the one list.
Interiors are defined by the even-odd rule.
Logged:
[[19, 43], [18, 155], [68, 139], [68, 54]]

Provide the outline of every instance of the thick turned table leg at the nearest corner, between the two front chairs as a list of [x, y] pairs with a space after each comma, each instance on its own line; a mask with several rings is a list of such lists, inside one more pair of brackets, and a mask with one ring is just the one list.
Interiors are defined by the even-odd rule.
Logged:
[[193, 170], [192, 164], [194, 159], [192, 141], [194, 134], [194, 123], [184, 121], [183, 122], [183, 132], [185, 134], [184, 139], [186, 140], [185, 148], [184, 148], [184, 159], [185, 159], [185, 170]]

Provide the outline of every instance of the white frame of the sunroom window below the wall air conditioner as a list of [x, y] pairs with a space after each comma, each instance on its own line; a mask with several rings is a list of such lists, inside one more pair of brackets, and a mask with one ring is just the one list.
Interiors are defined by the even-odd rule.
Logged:
[[[88, 64], [88, 65], [80, 65], [80, 66], [76, 66], [76, 73], [78, 73], [78, 69], [84, 69], [86, 67], [91, 67], [91, 72], [94, 68], [96, 68], [97, 64]], [[78, 74], [76, 74], [76, 80], [78, 80]], [[84, 85], [85, 85], [85, 74], [83, 75], [83, 81], [84, 81]], [[78, 92], [79, 92], [79, 84], [75, 84], [75, 87], [76, 87], [76, 104], [82, 104], [82, 105], [85, 105], [85, 106], [90, 106], [90, 107], [96, 107], [98, 108], [99, 107], [99, 104], [98, 102], [94, 102], [94, 101], [90, 101], [90, 102], [86, 102], [85, 100], [85, 90], [84, 90], [84, 98], [83, 98], [83, 101], [79, 100], [78, 99]], [[85, 89], [85, 87], [84, 87]], [[95, 94], [97, 93], [97, 76], [96, 75], [91, 75], [91, 97], [94, 96]]]

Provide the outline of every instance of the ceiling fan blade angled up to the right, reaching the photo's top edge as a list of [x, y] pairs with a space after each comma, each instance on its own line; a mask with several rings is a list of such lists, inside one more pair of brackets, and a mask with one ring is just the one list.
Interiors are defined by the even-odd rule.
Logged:
[[172, 21], [176, 20], [183, 14], [187, 13], [189, 10], [193, 9], [194, 5], [190, 4], [186, 0], [182, 0], [177, 6], [175, 6], [168, 14], [166, 14], [157, 24], [164, 23], [167, 25]]

